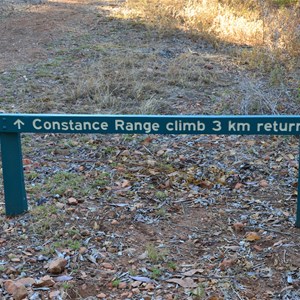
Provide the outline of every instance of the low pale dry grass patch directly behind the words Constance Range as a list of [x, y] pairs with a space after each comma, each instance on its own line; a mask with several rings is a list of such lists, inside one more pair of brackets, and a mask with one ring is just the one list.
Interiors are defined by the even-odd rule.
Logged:
[[67, 86], [67, 102], [78, 107], [93, 107], [95, 113], [154, 114], [167, 111], [159, 94], [154, 58], [143, 54], [124, 57], [111, 55], [94, 63]]

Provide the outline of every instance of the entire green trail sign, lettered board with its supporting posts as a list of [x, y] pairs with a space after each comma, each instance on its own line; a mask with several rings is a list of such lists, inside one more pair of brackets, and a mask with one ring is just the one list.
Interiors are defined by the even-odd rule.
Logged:
[[[1, 114], [6, 214], [28, 210], [20, 133], [300, 135], [300, 116]], [[300, 178], [300, 168], [299, 168]], [[300, 180], [296, 227], [300, 228]]]

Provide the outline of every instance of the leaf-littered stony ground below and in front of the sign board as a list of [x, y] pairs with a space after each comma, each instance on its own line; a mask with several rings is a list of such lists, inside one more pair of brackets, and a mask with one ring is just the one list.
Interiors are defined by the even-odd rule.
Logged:
[[30, 210], [2, 216], [1, 296], [29, 277], [29, 299], [294, 299], [297, 152], [283, 137], [32, 136]]

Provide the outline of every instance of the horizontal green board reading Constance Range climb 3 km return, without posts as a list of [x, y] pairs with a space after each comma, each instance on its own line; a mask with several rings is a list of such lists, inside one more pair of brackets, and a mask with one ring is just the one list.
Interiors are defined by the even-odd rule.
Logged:
[[300, 116], [2, 114], [2, 132], [300, 135]]

